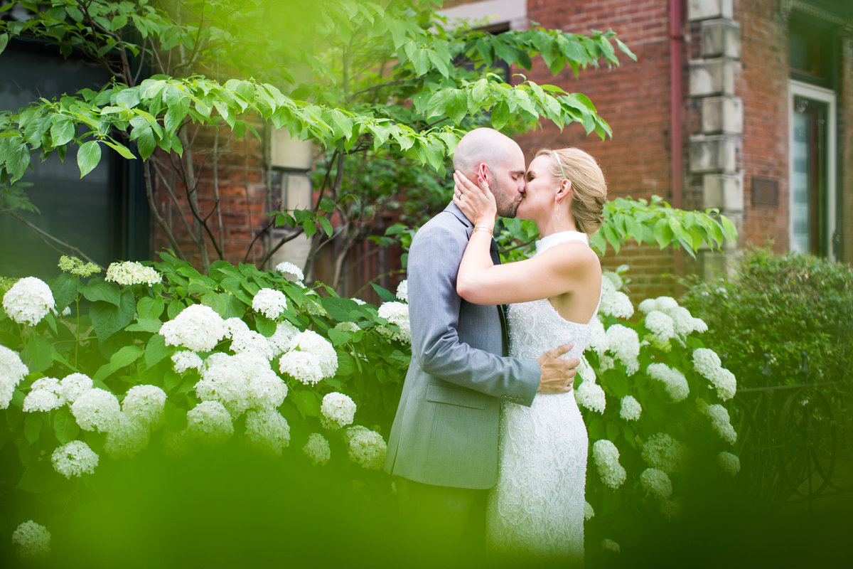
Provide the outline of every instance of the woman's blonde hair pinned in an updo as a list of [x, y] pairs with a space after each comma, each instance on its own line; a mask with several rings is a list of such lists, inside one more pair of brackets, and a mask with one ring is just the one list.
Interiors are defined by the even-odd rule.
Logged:
[[604, 221], [607, 184], [598, 162], [580, 148], [540, 150], [537, 157], [551, 157], [549, 173], [555, 180], [572, 182], [572, 218], [578, 231], [592, 235]]

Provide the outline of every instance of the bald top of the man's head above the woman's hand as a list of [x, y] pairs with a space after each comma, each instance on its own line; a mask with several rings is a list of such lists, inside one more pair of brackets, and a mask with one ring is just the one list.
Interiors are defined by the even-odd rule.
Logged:
[[494, 129], [474, 129], [462, 136], [453, 154], [453, 167], [476, 179], [477, 168], [485, 164], [491, 171], [505, 168], [525, 170], [525, 157], [519, 145], [509, 136]]

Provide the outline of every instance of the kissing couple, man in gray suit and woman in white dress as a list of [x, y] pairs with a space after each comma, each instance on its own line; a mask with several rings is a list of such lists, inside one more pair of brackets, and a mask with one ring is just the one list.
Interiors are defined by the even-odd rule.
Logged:
[[[385, 465], [401, 546], [424, 561], [582, 562], [589, 439], [572, 383], [601, 299], [589, 235], [604, 176], [577, 148], [525, 168], [486, 128], [453, 165], [452, 203], [409, 249], [412, 359]], [[537, 224], [534, 256], [500, 263], [498, 215]]]

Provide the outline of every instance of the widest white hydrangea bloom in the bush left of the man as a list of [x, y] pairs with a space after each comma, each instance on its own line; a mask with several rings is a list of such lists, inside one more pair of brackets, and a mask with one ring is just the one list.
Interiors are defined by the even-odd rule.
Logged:
[[195, 393], [202, 401], [218, 401], [239, 417], [247, 409], [276, 409], [287, 397], [287, 384], [264, 357], [251, 351], [235, 355], [218, 351], [206, 359]]

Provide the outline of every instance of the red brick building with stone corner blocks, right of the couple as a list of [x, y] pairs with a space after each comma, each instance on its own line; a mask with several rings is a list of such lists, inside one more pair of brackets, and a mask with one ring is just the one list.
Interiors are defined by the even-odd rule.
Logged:
[[[772, 243], [853, 260], [853, 3], [848, 0], [483, 0], [450, 3], [451, 17], [492, 26], [530, 22], [566, 32], [612, 28], [637, 55], [620, 67], [527, 76], [589, 96], [612, 139], [552, 125], [520, 138], [578, 146], [601, 162], [611, 195], [660, 195], [672, 206], [717, 207], [739, 229], [738, 249]], [[654, 247], [608, 252], [631, 266], [632, 293], [672, 286], [665, 274], [707, 272]]]

